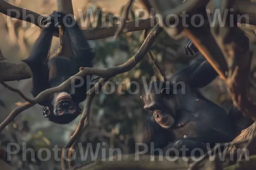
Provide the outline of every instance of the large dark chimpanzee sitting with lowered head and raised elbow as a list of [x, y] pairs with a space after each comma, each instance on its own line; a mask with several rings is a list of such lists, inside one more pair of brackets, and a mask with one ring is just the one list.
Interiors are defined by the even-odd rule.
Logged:
[[[152, 113], [145, 122], [143, 143], [150, 148], [154, 142], [154, 148], [163, 151], [171, 147], [180, 151], [186, 145], [186, 154], [194, 148], [206, 151], [206, 143], [213, 147], [215, 143], [231, 142], [242, 128], [251, 125], [253, 121], [243, 116], [233, 121], [223, 108], [198, 91], [217, 76], [203, 58], [178, 71], [169, 83], [151, 82], [151, 89], [141, 96], [144, 109]], [[238, 110], [236, 114], [242, 115]], [[246, 123], [237, 127], [239, 121]], [[148, 153], [151, 152], [149, 149]]]

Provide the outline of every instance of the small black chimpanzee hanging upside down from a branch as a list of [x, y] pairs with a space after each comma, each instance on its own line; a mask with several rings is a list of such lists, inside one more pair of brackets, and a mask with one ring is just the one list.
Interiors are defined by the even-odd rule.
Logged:
[[[80, 67], [93, 67], [93, 52], [91, 51], [87, 40], [84, 37], [78, 23], [73, 17], [64, 17], [65, 15], [54, 11], [51, 15], [41, 20], [41, 34], [36, 40], [30, 56], [23, 60], [32, 72], [32, 95], [37, 96], [40, 92], [47, 88], [60, 85], [62, 82], [79, 72]], [[67, 20], [64, 20], [67, 18]], [[66, 22], [64, 24], [64, 22]], [[72, 25], [75, 23], [75, 25]], [[47, 59], [48, 51], [52, 41], [54, 29], [59, 25], [65, 26], [64, 36], [70, 38], [71, 46], [75, 57], [68, 59], [67, 57], [52, 57]], [[71, 85], [64, 91], [54, 93], [47, 99], [38, 104], [46, 106], [43, 116], [50, 121], [58, 124], [67, 124], [73, 121], [80, 113], [79, 103], [86, 98], [86, 92], [89, 86], [93, 85], [91, 79], [84, 79], [84, 84], [71, 91]], [[75, 84], [80, 83], [77, 79]], [[94, 83], [96, 82], [96, 79]]]

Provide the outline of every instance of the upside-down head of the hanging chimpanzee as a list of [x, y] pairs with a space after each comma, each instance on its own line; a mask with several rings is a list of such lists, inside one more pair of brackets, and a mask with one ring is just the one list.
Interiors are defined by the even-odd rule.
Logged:
[[73, 102], [70, 94], [61, 92], [54, 94], [51, 105], [44, 108], [43, 115], [58, 124], [72, 122], [81, 114], [78, 103]]

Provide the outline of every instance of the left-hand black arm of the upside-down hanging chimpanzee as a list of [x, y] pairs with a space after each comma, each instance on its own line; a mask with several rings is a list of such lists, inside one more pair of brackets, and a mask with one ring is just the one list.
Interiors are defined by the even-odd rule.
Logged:
[[23, 60], [32, 72], [32, 94], [34, 97], [48, 88], [49, 70], [46, 62], [53, 31], [54, 25], [52, 23], [48, 27], [43, 28], [38, 39], [35, 41], [30, 56]]

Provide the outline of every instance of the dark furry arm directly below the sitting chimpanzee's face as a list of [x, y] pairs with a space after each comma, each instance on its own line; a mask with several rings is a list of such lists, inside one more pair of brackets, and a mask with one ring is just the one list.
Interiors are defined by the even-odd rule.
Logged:
[[[155, 120], [146, 119], [143, 126], [143, 144], [148, 146], [147, 154], [151, 153], [151, 142], [154, 142], [154, 149], [166, 147], [170, 142], [174, 141], [174, 133], [168, 129], [161, 127]], [[158, 154], [158, 153], [157, 153]]]

